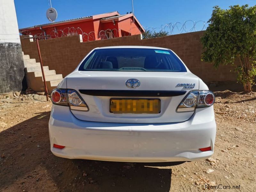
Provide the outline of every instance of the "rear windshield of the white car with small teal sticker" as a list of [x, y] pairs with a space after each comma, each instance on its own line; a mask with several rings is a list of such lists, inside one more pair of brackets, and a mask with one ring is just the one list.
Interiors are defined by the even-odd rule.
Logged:
[[141, 48], [96, 49], [83, 61], [79, 71], [187, 72], [173, 52]]

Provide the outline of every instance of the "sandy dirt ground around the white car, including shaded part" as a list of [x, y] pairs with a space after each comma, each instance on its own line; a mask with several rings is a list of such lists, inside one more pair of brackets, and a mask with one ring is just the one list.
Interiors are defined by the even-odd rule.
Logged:
[[51, 102], [38, 95], [0, 99], [0, 191], [204, 191], [205, 184], [231, 187], [209, 191], [256, 191], [256, 93], [216, 96], [215, 153], [182, 164], [56, 157], [48, 136]]

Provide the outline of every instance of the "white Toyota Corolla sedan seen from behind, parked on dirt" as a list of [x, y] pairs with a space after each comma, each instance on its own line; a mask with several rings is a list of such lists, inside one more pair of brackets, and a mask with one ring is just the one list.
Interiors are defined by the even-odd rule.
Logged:
[[51, 151], [70, 159], [206, 159], [214, 94], [170, 49], [93, 49], [51, 93]]

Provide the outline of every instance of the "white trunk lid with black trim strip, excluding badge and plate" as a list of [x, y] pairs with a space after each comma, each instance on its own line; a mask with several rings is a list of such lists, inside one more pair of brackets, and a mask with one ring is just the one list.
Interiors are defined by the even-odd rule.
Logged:
[[[126, 85], [129, 79], [139, 80], [140, 85], [129, 88]], [[80, 120], [96, 122], [186, 121], [194, 112], [177, 113], [176, 108], [189, 91], [198, 90], [198, 87], [198, 77], [190, 72], [76, 71], [67, 78], [67, 88], [75, 89], [89, 107], [86, 112], [72, 110], [73, 115]], [[153, 114], [111, 112], [113, 99], [159, 100], [160, 111]]]

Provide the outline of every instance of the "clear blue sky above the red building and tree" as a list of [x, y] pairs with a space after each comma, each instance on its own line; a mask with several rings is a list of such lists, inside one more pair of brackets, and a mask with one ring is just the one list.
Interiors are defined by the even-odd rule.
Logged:
[[[50, 0], [14, 0], [19, 28], [45, 24], [49, 21], [45, 13]], [[58, 12], [56, 21], [74, 19], [100, 13], [118, 11], [120, 14], [132, 11], [131, 0], [52, 0], [52, 7]], [[134, 14], [145, 27], [160, 28], [167, 23], [186, 20], [207, 22], [212, 7], [219, 5], [227, 9], [230, 5], [256, 4], [255, 0], [133, 0]], [[188, 23], [188, 28], [191, 26]], [[198, 23], [197, 28], [203, 24]]]

